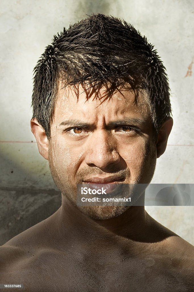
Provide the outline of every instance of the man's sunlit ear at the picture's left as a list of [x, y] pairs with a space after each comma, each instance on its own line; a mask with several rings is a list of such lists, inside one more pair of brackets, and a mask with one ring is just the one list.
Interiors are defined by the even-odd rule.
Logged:
[[30, 126], [31, 131], [36, 139], [39, 153], [48, 160], [49, 141], [45, 134], [45, 130], [38, 123], [37, 119], [31, 119]]

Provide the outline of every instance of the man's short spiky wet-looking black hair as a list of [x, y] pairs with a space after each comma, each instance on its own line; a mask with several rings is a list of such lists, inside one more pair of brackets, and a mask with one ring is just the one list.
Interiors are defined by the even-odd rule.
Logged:
[[64, 28], [38, 60], [33, 118], [48, 138], [59, 80], [64, 86], [109, 84], [109, 95], [126, 83], [136, 92], [143, 89], [156, 132], [171, 114], [168, 77], [154, 46], [131, 24], [112, 16], [92, 14]]

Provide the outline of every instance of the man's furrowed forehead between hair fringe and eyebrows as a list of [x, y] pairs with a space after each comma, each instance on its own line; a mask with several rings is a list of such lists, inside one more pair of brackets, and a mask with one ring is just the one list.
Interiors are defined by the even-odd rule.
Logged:
[[114, 119], [130, 116], [150, 120], [150, 107], [147, 95], [139, 92], [138, 96], [129, 88], [117, 89], [109, 95], [107, 88], [83, 89], [59, 85], [58, 96], [54, 111], [54, 122], [64, 118], [77, 119], [100, 118]]

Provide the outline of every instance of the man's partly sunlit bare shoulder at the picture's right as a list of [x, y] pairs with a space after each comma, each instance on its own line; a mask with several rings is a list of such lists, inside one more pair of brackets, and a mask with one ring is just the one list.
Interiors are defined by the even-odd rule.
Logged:
[[171, 281], [193, 286], [194, 246], [149, 217], [153, 242], [149, 245], [150, 256], [154, 257], [157, 272], [167, 273]]

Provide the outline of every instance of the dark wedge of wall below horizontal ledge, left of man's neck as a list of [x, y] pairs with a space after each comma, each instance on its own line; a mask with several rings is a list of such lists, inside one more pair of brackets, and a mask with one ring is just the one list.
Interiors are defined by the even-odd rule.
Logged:
[[56, 190], [1, 188], [0, 245], [48, 218], [60, 206], [61, 193]]

